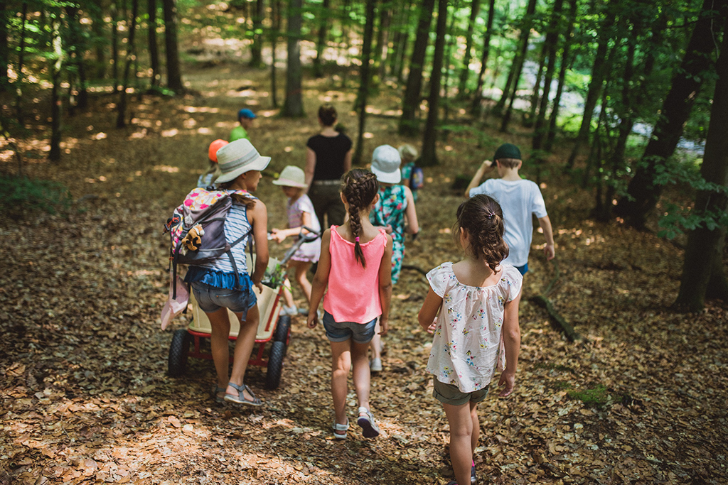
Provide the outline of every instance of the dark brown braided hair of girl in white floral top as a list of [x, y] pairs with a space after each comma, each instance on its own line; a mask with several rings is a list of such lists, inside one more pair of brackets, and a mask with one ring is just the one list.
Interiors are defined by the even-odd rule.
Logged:
[[508, 245], [503, 240], [505, 225], [500, 205], [483, 194], [473, 196], [457, 208], [457, 221], [453, 238], [460, 244], [460, 228], [467, 231], [474, 257], [482, 257], [493, 272], [508, 256]]

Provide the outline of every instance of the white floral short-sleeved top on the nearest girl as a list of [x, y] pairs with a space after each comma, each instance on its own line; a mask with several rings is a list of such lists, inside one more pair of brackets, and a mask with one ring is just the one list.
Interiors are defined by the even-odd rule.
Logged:
[[501, 278], [493, 286], [460, 283], [452, 262], [443, 262], [427, 273], [432, 291], [443, 299], [427, 372], [464, 393], [485, 388], [496, 364], [505, 358], [505, 303], [521, 292], [523, 276], [512, 265], [501, 267]]

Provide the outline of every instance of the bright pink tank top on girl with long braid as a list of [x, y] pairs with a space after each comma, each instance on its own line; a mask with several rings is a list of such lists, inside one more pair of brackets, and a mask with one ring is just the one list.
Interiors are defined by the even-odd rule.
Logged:
[[379, 266], [387, 248], [387, 233], [361, 244], [366, 268], [354, 256], [354, 243], [342, 238], [331, 226], [331, 270], [328, 273], [328, 291], [323, 309], [335, 321], [353, 321], [366, 324], [381, 315], [379, 300]]

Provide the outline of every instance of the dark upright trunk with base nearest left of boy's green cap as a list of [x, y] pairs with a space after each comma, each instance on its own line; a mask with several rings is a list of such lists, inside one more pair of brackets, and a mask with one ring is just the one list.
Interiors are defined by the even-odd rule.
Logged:
[[427, 98], [427, 124], [424, 126], [422, 156], [419, 159], [421, 167], [432, 167], [438, 164], [435, 147], [438, 142], [438, 106], [440, 105], [440, 79], [443, 75], [447, 20], [448, 0], [438, 0], [437, 38], [435, 39], [435, 54], [432, 56], [430, 97]]

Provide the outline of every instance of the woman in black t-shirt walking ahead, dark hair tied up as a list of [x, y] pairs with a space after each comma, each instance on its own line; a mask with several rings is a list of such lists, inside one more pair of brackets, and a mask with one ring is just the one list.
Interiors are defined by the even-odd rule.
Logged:
[[[336, 124], [336, 108], [323, 105], [319, 108], [319, 135], [306, 143], [306, 185], [309, 198], [319, 218], [321, 228], [344, 223], [344, 204], [339, 195], [341, 176], [352, 168], [352, 140], [339, 133]], [[328, 226], [324, 225], [324, 214], [328, 215]]]

